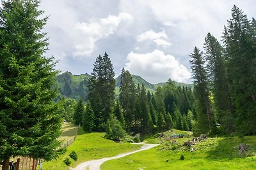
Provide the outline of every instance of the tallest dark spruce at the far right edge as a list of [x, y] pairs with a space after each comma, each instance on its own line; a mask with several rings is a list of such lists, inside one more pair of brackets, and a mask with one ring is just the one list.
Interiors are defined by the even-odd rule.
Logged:
[[236, 131], [242, 135], [256, 134], [255, 21], [248, 20], [235, 5], [231, 15], [223, 40], [228, 80], [236, 107]]

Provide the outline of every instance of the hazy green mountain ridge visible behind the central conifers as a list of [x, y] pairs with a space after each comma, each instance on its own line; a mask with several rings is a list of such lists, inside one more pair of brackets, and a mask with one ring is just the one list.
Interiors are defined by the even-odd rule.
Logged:
[[[60, 89], [60, 94], [63, 97], [70, 97], [73, 99], [79, 99], [82, 97], [83, 101], [87, 100], [88, 96], [88, 80], [90, 78], [90, 74], [80, 74], [80, 75], [74, 75], [70, 72], [65, 72], [63, 74], [60, 74], [56, 77], [56, 84], [58, 88]], [[119, 87], [121, 83], [121, 76], [119, 75], [116, 80], [116, 97], [118, 97]], [[136, 85], [143, 84], [145, 86], [146, 90], [149, 90], [150, 92], [155, 92], [157, 86], [163, 87], [165, 83], [157, 83], [157, 84], [151, 84], [148, 83], [148, 81], [141, 78], [141, 76], [132, 75], [132, 80]], [[193, 88], [193, 84], [186, 84], [186, 83], [177, 83], [175, 82], [177, 86], [184, 86], [184, 87], [191, 87]]]

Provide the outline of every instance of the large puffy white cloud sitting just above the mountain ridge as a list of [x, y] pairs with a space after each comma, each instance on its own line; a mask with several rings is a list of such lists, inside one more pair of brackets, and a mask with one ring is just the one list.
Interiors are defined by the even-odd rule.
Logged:
[[125, 69], [132, 74], [142, 76], [150, 83], [167, 81], [168, 78], [188, 83], [191, 76], [188, 69], [180, 64], [179, 60], [160, 50], [154, 50], [151, 53], [129, 53]]

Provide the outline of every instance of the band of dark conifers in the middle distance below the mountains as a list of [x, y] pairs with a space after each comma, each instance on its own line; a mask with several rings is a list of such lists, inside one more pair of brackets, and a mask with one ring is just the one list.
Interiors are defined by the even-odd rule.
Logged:
[[195, 97], [191, 88], [176, 87], [174, 81], [168, 80], [153, 94], [143, 84], [135, 85], [131, 73], [123, 68], [116, 100], [115, 73], [108, 54], [99, 55], [93, 66], [86, 107], [80, 99], [74, 112], [75, 124], [83, 125], [84, 131], [110, 132], [109, 125], [115, 124], [131, 134], [192, 129]]

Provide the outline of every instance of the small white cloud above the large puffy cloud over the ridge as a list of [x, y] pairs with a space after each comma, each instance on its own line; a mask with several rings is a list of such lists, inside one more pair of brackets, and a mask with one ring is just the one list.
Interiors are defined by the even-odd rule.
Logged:
[[137, 41], [139, 41], [139, 42], [150, 40], [150, 41], [153, 41], [154, 43], [156, 43], [157, 46], [170, 46], [171, 43], [166, 41], [166, 39], [168, 39], [168, 36], [164, 31], [155, 32], [152, 30], [143, 32], [142, 34], [140, 34], [137, 37]]

